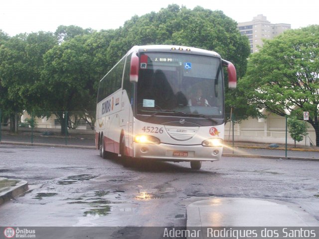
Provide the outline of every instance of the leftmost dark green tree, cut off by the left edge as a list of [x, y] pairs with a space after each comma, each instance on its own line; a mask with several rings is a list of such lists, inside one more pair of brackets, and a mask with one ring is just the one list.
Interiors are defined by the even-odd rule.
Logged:
[[0, 108], [10, 113], [11, 130], [17, 130], [17, 115], [39, 101], [35, 85], [40, 80], [42, 56], [56, 38], [49, 32], [18, 34], [0, 46]]

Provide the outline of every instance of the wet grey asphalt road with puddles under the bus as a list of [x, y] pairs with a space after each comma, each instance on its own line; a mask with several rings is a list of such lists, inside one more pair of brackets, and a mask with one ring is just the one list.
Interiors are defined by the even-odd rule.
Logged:
[[0, 206], [0, 226], [186, 225], [186, 206], [219, 197], [296, 203], [319, 220], [319, 162], [223, 157], [124, 168], [93, 149], [0, 145], [0, 177], [29, 191]]

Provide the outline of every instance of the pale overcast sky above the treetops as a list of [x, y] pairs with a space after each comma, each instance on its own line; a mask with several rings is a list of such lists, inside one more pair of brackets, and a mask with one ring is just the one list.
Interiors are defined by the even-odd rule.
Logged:
[[59, 25], [116, 29], [132, 16], [158, 12], [169, 4], [222, 10], [237, 22], [263, 14], [271, 23], [293, 29], [319, 24], [318, 0], [1, 0], [0, 29], [10, 36], [54, 32]]

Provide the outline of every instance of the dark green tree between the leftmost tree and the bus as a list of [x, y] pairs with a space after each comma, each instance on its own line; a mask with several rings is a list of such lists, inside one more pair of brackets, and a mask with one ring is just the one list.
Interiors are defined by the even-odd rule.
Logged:
[[[61, 124], [61, 133], [65, 133], [66, 122], [70, 121], [70, 112], [88, 110], [92, 105], [91, 94], [97, 80], [92, 77], [93, 56], [88, 54], [86, 42], [90, 35], [78, 35], [48, 50], [44, 56], [44, 67], [38, 89], [41, 91], [40, 107], [50, 116], [53, 113]], [[93, 74], [94, 75], [94, 74]]]

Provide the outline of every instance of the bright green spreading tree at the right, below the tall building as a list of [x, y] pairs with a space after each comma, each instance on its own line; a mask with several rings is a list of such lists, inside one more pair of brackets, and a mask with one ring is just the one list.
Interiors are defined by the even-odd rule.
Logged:
[[288, 30], [273, 40], [265, 40], [251, 55], [246, 76], [239, 89], [247, 101], [259, 109], [298, 119], [310, 114], [319, 146], [319, 25]]

